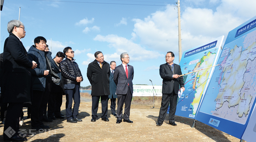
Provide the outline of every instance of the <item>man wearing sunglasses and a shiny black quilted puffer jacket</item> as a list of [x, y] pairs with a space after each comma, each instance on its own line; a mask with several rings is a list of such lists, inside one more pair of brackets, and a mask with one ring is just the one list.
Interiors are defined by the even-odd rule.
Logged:
[[[74, 51], [71, 47], [66, 47], [63, 50], [66, 59], [61, 61], [61, 74], [64, 80], [64, 89], [66, 93], [66, 116], [67, 122], [77, 123], [82, 121], [77, 118], [80, 106], [80, 83], [83, 81], [83, 76], [74, 59]], [[72, 111], [72, 101], [74, 99], [74, 106]]]

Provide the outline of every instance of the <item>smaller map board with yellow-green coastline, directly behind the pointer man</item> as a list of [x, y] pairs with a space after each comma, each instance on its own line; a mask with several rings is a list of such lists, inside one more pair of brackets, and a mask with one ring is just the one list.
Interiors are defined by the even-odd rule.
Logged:
[[[203, 92], [210, 81], [224, 36], [183, 52], [180, 60], [182, 74], [200, 70], [183, 76], [185, 91], [178, 100], [175, 115], [195, 119]], [[201, 70], [207, 68], [205, 70]], [[168, 111], [169, 112], [169, 111]]]

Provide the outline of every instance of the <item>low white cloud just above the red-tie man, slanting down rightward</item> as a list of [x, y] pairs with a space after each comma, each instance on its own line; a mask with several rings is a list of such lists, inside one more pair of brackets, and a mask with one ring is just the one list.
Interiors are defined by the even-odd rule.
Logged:
[[141, 47], [141, 45], [131, 40], [113, 34], [108, 36], [97, 35], [94, 40], [108, 42], [109, 47], [116, 49], [116, 55], [120, 55], [122, 52], [128, 52], [133, 61], [146, 61], [147, 59], [156, 59], [159, 56], [163, 56], [156, 51], [146, 50], [144, 47]]

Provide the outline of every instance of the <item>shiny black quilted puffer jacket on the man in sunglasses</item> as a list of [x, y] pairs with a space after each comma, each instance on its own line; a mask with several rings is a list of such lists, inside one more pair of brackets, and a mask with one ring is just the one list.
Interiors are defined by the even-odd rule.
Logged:
[[[72, 59], [72, 61], [66, 57], [65, 60], [61, 61], [60, 63], [61, 67], [61, 75], [63, 76], [64, 84], [78, 84], [80, 83], [76, 82], [76, 77], [82, 76], [81, 71], [78, 67], [78, 64], [75, 62], [75, 59]], [[83, 76], [82, 76], [83, 79]]]

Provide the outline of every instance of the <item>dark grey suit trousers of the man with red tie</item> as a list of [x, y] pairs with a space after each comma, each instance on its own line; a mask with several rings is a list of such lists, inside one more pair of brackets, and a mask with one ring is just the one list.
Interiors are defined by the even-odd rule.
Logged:
[[[131, 102], [132, 102], [132, 93], [130, 91], [130, 87], [128, 86], [128, 92], [127, 94], [120, 95], [117, 94], [117, 120], [128, 120], [130, 118], [130, 108], [131, 108]], [[122, 106], [124, 105], [124, 117], [122, 117]]]

